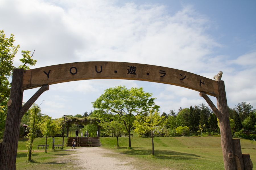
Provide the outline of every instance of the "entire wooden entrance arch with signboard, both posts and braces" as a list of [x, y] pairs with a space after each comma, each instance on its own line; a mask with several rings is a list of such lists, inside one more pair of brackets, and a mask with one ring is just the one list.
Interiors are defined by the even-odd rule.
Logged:
[[[125, 62], [78, 62], [37, 69], [14, 69], [3, 142], [0, 143], [0, 169], [16, 169], [20, 120], [49, 85], [89, 79], [128, 79], [171, 84], [196, 90], [220, 120], [221, 146], [225, 169], [252, 169], [250, 156], [241, 153], [239, 139], [232, 139], [224, 81], [215, 81], [182, 70]], [[41, 87], [22, 106], [23, 90]], [[214, 106], [208, 95], [217, 99]]]

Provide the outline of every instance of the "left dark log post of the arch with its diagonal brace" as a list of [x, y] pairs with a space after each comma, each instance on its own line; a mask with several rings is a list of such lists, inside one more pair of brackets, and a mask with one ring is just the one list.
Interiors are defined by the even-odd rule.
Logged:
[[41, 87], [22, 107], [22, 82], [23, 82], [23, 69], [14, 69], [12, 86], [9, 101], [7, 103], [7, 117], [5, 123], [5, 131], [3, 135], [3, 142], [0, 147], [0, 169], [15, 170], [16, 169], [16, 156], [18, 148], [18, 139], [20, 131], [20, 120], [24, 113], [36, 101], [36, 99], [46, 90], [49, 86]]

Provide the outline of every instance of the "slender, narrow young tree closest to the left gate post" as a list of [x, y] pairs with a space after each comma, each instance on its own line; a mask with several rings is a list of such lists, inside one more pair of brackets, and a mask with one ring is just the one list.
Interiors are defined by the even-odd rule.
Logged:
[[46, 118], [41, 113], [41, 109], [37, 104], [32, 105], [32, 107], [29, 109], [30, 112], [30, 122], [29, 122], [29, 133], [27, 141], [27, 149], [28, 149], [28, 161], [32, 161], [32, 146], [34, 138], [36, 137], [36, 130], [45, 122]]

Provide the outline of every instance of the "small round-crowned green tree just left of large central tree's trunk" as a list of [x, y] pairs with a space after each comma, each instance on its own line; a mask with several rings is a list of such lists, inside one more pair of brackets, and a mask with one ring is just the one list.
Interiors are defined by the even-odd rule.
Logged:
[[117, 139], [117, 147], [119, 147], [118, 137], [125, 134], [125, 126], [117, 120], [111, 122], [101, 122], [99, 124], [106, 132], [113, 134]]

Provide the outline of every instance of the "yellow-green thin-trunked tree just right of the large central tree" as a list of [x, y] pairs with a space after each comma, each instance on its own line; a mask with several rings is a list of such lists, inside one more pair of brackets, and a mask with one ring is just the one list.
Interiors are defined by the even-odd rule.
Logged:
[[148, 114], [137, 115], [136, 120], [134, 121], [135, 131], [138, 129], [139, 131], [150, 132], [152, 155], [155, 155], [153, 132], [161, 131], [163, 129], [164, 119], [163, 116], [160, 116], [159, 112], [151, 110]]

